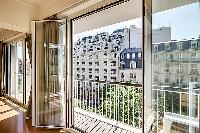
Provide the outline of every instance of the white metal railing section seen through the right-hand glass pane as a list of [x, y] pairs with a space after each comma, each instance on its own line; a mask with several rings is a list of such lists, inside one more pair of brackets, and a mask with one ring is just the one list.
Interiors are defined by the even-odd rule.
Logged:
[[154, 110], [162, 117], [164, 113], [174, 113], [199, 119], [199, 94], [195, 92], [153, 89]]

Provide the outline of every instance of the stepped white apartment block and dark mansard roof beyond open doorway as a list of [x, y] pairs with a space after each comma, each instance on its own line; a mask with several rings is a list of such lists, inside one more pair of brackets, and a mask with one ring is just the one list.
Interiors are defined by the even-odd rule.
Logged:
[[[169, 41], [171, 28], [153, 29], [153, 39]], [[79, 38], [74, 45], [75, 79], [142, 83], [142, 31], [130, 28], [116, 29]]]

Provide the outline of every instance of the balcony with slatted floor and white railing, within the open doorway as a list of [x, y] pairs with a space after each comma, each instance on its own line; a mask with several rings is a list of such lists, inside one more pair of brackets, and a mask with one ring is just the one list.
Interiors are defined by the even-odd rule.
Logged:
[[140, 86], [75, 80], [74, 105], [75, 128], [81, 132], [141, 132]]

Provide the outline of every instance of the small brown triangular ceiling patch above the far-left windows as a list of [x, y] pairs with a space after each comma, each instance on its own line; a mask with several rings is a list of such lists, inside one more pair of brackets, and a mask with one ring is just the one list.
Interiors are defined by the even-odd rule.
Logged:
[[4, 41], [5, 39], [17, 35], [20, 32], [18, 31], [13, 31], [13, 30], [8, 30], [8, 29], [4, 29], [4, 28], [0, 28], [0, 41]]

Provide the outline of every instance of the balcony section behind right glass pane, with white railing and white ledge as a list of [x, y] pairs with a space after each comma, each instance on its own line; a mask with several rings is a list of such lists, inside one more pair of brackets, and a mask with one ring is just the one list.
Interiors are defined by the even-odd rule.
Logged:
[[[172, 126], [173, 122], [199, 127], [199, 94], [194, 91], [171, 90], [172, 88], [156, 87], [153, 92], [155, 110], [162, 110], [158, 115], [159, 121], [163, 121], [163, 131], [166, 126]], [[157, 106], [158, 105], [158, 106]]]

